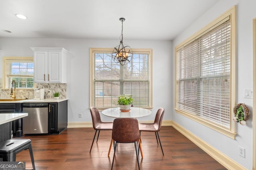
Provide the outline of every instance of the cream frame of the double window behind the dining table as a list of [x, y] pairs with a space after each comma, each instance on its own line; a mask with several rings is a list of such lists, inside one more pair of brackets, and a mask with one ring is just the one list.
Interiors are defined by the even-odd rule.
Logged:
[[[94, 81], [93, 81], [93, 51], [113, 51], [112, 48], [90, 48], [90, 107], [93, 106], [93, 101], [94, 101]], [[132, 49], [133, 53], [134, 52], [142, 52], [142, 53], [149, 53], [149, 106], [144, 107], [147, 109], [152, 109], [152, 49]], [[98, 108], [100, 111], [107, 109], [107, 108]]]

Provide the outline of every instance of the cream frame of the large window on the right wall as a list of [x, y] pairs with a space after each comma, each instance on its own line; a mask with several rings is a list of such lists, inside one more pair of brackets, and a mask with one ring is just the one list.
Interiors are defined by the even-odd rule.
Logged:
[[[198, 115], [193, 115], [191, 113], [179, 110], [177, 108], [177, 50], [182, 47], [187, 45], [188, 43], [191, 43], [201, 35], [204, 35], [205, 33], [208, 33], [211, 29], [215, 27], [218, 23], [220, 23], [222, 20], [225, 18], [230, 17], [230, 108], [229, 108], [229, 113], [230, 113], [230, 127], [229, 129], [224, 128], [220, 125], [217, 125], [215, 123], [212, 123], [210, 121], [206, 121], [205, 119], [202, 119]], [[233, 107], [235, 106], [235, 96], [236, 96], [236, 80], [235, 80], [235, 75], [236, 75], [236, 6], [233, 6], [230, 10], [222, 14], [220, 17], [216, 18], [214, 21], [206, 25], [204, 28], [202, 28], [200, 31], [192, 35], [190, 38], [186, 39], [179, 45], [175, 47], [175, 106], [174, 109], [176, 110], [177, 113], [184, 115], [185, 117], [188, 117], [198, 123], [201, 123], [202, 125], [205, 125], [206, 127], [209, 127], [211, 129], [214, 129], [215, 131], [218, 131], [219, 133], [222, 133], [232, 139], [235, 139], [236, 137], [236, 126], [235, 122], [232, 120], [234, 117], [233, 113]]]

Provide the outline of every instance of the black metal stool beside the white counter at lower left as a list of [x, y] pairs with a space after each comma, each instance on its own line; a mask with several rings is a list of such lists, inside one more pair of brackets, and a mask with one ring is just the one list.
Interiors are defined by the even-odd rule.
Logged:
[[30, 139], [8, 139], [0, 143], [0, 158], [2, 161], [15, 162], [16, 154], [29, 149], [33, 169], [35, 170], [34, 155]]

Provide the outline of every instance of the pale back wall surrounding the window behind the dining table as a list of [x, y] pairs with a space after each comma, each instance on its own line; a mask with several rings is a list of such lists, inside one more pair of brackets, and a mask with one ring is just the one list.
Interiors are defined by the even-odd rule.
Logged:
[[[33, 38], [0, 38], [0, 66], [4, 56], [33, 56], [30, 47], [64, 47], [68, 50], [67, 97], [68, 121], [90, 122], [89, 110], [89, 48], [114, 48], [119, 40], [106, 39], [33, 39]], [[159, 107], [166, 109], [164, 119], [171, 120], [172, 77], [170, 75], [172, 59], [171, 41], [128, 41], [132, 48], [153, 49], [153, 107], [152, 115], [139, 120], [153, 120]], [[0, 78], [2, 69], [0, 69]], [[78, 113], [83, 113], [78, 118]], [[112, 118], [102, 115], [103, 121]]]

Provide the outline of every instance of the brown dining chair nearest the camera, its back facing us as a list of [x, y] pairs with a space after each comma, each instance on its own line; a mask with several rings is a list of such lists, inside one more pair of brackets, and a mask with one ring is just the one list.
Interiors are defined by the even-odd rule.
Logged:
[[[140, 145], [140, 130], [138, 125], [138, 120], [135, 118], [116, 118], [113, 122], [112, 129], [112, 139], [114, 143], [114, 156], [112, 161], [112, 167], [114, 165], [114, 159], [116, 157], [116, 148], [118, 143], [134, 143], [137, 163], [140, 169], [139, 164], [139, 149]], [[137, 142], [139, 143], [139, 149], [137, 149]]]

